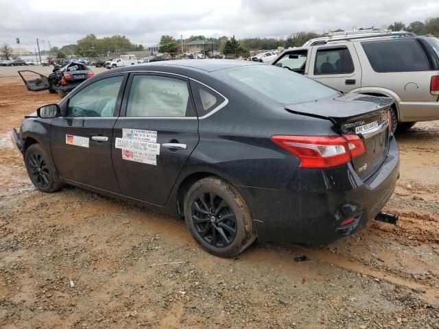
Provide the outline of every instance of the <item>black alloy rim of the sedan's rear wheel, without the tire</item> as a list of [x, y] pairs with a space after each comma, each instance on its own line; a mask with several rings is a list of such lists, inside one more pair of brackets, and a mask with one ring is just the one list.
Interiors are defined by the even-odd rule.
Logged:
[[237, 219], [226, 200], [215, 193], [200, 192], [191, 207], [193, 226], [213, 247], [227, 247], [237, 234]]

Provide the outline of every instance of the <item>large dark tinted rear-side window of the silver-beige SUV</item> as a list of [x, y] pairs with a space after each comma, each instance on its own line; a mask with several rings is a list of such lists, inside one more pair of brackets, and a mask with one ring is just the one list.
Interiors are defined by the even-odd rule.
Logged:
[[415, 39], [361, 42], [375, 72], [429, 71], [427, 56]]

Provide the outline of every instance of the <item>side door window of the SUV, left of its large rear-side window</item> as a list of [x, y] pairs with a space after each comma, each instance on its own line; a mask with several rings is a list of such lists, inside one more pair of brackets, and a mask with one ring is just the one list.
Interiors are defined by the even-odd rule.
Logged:
[[354, 64], [349, 50], [318, 49], [316, 61], [314, 62], [314, 75], [324, 74], [346, 74], [354, 72]]

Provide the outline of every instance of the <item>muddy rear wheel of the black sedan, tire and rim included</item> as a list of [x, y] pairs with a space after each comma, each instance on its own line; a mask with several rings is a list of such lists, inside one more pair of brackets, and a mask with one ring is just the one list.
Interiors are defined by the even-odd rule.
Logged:
[[193, 239], [215, 256], [237, 256], [256, 239], [245, 200], [221, 178], [210, 176], [195, 182], [185, 195], [184, 207]]

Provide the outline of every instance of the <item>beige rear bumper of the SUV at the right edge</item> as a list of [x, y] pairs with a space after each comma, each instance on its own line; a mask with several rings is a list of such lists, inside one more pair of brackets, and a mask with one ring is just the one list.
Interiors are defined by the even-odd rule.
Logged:
[[439, 119], [439, 101], [400, 101], [398, 109], [401, 122]]

